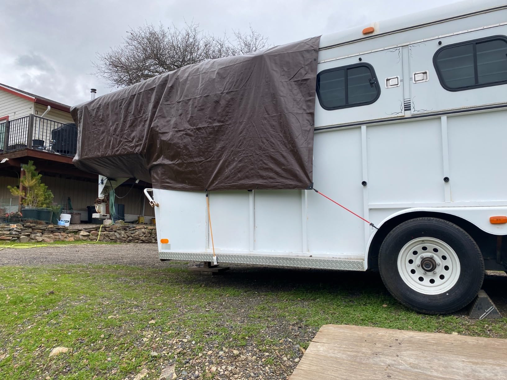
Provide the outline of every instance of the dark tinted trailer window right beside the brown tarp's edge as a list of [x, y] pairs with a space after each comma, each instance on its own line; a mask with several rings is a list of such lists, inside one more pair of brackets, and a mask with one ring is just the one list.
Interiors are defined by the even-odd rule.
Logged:
[[324, 109], [355, 107], [375, 102], [380, 87], [368, 63], [343, 66], [317, 74], [317, 97]]

